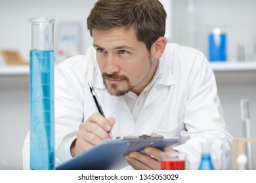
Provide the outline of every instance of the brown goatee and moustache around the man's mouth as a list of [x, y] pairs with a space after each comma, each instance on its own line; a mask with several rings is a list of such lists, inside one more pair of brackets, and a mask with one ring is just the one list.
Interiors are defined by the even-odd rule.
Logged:
[[[106, 89], [108, 90], [108, 93], [110, 93], [110, 95], [119, 97], [119, 96], [125, 95], [126, 93], [133, 90], [133, 88], [135, 88], [135, 86], [131, 85], [129, 78], [125, 75], [117, 75], [116, 73], [112, 75], [108, 75], [107, 73], [103, 73], [102, 78], [103, 78], [103, 84], [106, 86]], [[119, 89], [117, 84], [110, 84], [110, 86], [108, 86], [105, 81], [106, 79], [123, 80], [125, 82], [125, 87], [122, 89]]]

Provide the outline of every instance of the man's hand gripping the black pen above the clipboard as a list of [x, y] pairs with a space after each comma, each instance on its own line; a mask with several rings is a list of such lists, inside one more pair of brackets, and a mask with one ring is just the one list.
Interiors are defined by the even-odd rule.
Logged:
[[79, 125], [77, 139], [72, 143], [70, 152], [77, 156], [90, 148], [93, 148], [104, 139], [109, 139], [110, 131], [115, 124], [114, 118], [104, 118], [101, 114], [95, 113], [85, 122]]

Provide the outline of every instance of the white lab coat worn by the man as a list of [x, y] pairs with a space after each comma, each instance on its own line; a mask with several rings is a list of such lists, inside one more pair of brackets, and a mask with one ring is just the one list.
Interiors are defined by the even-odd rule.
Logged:
[[[180, 137], [175, 149], [186, 153], [190, 169], [198, 169], [200, 141], [211, 142], [216, 169], [226, 169], [232, 136], [228, 133], [213, 71], [202, 52], [178, 44], [167, 44], [160, 59], [158, 78], [137, 121], [123, 97], [106, 92], [96, 63], [95, 50], [60, 63], [55, 71], [56, 165], [70, 158], [70, 144], [79, 124], [97, 112], [88, 87], [92, 82], [105, 116], [116, 119], [114, 137], [150, 135]], [[24, 143], [24, 169], [29, 169], [29, 133]]]

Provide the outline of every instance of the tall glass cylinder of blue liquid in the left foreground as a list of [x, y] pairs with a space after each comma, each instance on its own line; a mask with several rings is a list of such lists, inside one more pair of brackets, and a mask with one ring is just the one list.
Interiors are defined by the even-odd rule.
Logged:
[[54, 20], [30, 22], [30, 169], [54, 169]]

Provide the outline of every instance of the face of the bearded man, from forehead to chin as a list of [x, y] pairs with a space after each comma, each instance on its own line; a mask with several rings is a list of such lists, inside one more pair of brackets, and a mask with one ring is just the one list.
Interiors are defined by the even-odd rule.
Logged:
[[139, 95], [152, 80], [157, 60], [144, 42], [137, 40], [132, 28], [93, 29], [93, 46], [104, 84], [111, 95], [120, 96], [129, 91]]

